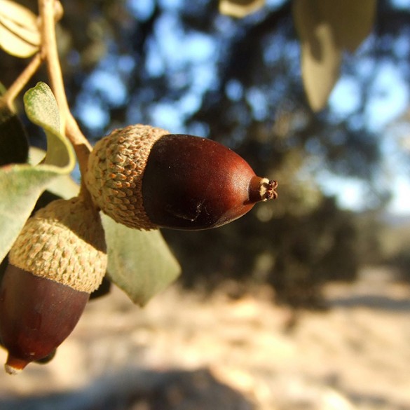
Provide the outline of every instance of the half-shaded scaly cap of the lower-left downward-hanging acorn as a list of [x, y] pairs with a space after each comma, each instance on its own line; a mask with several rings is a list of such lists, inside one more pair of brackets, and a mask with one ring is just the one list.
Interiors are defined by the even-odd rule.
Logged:
[[33, 275], [93, 292], [107, 271], [100, 214], [80, 197], [55, 200], [27, 220], [8, 258]]

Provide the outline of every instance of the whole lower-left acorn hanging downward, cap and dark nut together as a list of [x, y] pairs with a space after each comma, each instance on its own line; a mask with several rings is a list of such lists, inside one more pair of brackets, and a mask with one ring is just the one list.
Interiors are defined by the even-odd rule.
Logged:
[[82, 198], [55, 200], [29, 218], [0, 287], [5, 369], [16, 374], [72, 332], [107, 271], [100, 214]]

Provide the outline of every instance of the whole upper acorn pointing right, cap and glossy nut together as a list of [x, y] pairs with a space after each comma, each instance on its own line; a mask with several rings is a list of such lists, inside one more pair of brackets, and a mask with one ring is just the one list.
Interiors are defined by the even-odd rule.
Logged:
[[216, 228], [278, 196], [276, 181], [226, 146], [139, 124], [95, 144], [85, 181], [104, 213], [146, 230]]

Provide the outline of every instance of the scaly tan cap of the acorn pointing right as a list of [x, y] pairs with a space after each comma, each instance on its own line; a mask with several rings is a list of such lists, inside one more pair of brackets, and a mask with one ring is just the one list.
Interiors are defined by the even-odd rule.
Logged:
[[158, 228], [144, 210], [142, 177], [151, 147], [168, 134], [151, 125], [129, 125], [95, 144], [85, 181], [95, 205], [114, 221], [130, 228]]

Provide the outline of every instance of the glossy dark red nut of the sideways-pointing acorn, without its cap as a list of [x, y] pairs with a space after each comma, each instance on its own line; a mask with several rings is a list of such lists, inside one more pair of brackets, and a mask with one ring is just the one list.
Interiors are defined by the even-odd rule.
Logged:
[[168, 228], [216, 228], [261, 200], [276, 183], [257, 177], [237, 153], [210, 139], [165, 135], [153, 144], [142, 178], [144, 209]]

